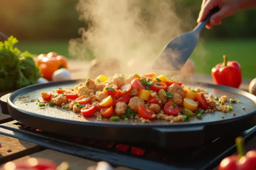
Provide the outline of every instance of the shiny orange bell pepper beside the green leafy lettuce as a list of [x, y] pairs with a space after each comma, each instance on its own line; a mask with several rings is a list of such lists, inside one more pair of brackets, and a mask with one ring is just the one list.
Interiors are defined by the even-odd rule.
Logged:
[[67, 59], [64, 56], [55, 57], [49, 54], [39, 55], [36, 62], [45, 79], [52, 79], [52, 74], [60, 68], [67, 68]]

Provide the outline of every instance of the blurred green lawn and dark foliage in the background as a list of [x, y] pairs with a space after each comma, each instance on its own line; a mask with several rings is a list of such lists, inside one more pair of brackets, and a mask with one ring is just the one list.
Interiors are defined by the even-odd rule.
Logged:
[[[182, 20], [189, 8], [196, 22], [201, 2], [176, 0], [176, 12]], [[76, 4], [77, 0], [1, 0], [0, 31], [17, 37], [20, 41], [18, 47], [22, 51], [28, 50], [34, 54], [55, 51], [68, 57], [68, 41], [80, 37], [78, 29], [87, 26], [79, 21]], [[222, 55], [227, 54], [230, 60], [241, 63], [244, 78], [256, 77], [256, 72], [252, 71], [256, 63], [255, 16], [256, 9], [239, 11], [225, 18], [221, 26], [215, 26], [211, 31], [204, 29], [201, 37], [209, 65], [197, 67], [196, 71], [210, 74], [211, 68], [222, 62]], [[201, 60], [195, 57], [196, 52], [193, 52], [192, 59], [200, 65]]]

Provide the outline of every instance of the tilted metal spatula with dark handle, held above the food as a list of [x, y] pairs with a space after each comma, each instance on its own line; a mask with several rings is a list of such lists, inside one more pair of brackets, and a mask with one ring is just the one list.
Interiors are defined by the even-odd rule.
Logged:
[[152, 68], [157, 70], [180, 70], [194, 51], [201, 30], [218, 10], [218, 7], [213, 8], [204, 21], [199, 23], [192, 31], [173, 38], [160, 52]]

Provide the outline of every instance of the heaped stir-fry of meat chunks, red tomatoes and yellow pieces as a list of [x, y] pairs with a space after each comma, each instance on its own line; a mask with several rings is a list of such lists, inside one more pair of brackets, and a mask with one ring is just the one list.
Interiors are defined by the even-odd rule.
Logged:
[[191, 116], [201, 119], [203, 113], [216, 110], [214, 99], [206, 99], [201, 90], [184, 88], [182, 82], [155, 73], [88, 77], [84, 84], [54, 91], [56, 94], [41, 92], [44, 101], [39, 107], [58, 105], [78, 116], [96, 116], [99, 121], [105, 117], [111, 121], [181, 122]]

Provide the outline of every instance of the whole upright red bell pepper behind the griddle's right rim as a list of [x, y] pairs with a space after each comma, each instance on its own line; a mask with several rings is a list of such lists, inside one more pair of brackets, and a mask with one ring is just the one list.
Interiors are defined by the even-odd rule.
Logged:
[[242, 82], [240, 64], [236, 61], [227, 61], [226, 55], [223, 58], [223, 63], [212, 68], [212, 78], [215, 84], [239, 88]]

